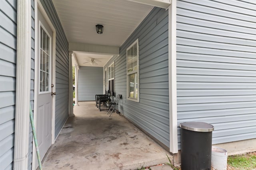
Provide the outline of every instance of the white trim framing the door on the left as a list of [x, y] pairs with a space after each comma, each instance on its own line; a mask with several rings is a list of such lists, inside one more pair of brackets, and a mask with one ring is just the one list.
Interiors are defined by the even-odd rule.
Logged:
[[[38, 10], [42, 13], [44, 16], [46, 22], [50, 26], [53, 32], [53, 37], [52, 37], [52, 84], [54, 84], [54, 87], [52, 88], [53, 92], [56, 92], [56, 30], [52, 22], [50, 21], [50, 18], [48, 17], [46, 11], [44, 10], [44, 7], [42, 6], [40, 0], [35, 0], [35, 70], [34, 72], [37, 73], [39, 70], [38, 66], [38, 58], [36, 57], [38, 54]], [[38, 80], [38, 74], [35, 74], [34, 80]], [[37, 102], [38, 102], [38, 83], [34, 83], [34, 123], [35, 123], [35, 129], [36, 129], [36, 118], [37, 118]], [[55, 142], [55, 95], [52, 97], [52, 144]], [[36, 161], [37, 161], [37, 156], [36, 156], [36, 147], [33, 142], [33, 152], [32, 152], [32, 170], [36, 169]]]

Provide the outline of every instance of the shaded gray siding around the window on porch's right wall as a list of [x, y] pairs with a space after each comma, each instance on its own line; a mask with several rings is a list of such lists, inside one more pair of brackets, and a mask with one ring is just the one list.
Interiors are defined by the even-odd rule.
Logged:
[[[139, 40], [140, 101], [127, 100], [126, 49]], [[115, 62], [115, 91], [122, 94], [118, 109], [126, 118], [169, 147], [168, 11], [154, 8], [120, 47]]]

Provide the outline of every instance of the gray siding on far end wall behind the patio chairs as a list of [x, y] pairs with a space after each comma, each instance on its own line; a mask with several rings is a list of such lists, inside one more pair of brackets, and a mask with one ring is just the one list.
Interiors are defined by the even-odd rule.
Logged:
[[80, 66], [78, 70], [78, 100], [95, 100], [103, 94], [103, 67]]

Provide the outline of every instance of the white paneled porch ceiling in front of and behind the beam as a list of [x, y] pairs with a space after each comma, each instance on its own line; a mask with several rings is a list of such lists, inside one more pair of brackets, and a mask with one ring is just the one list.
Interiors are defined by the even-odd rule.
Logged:
[[[127, 0], [52, 0], [69, 43], [86, 43], [120, 47], [152, 6]], [[104, 26], [103, 33], [95, 25]], [[91, 55], [76, 51], [79, 65]], [[104, 57], [94, 55], [104, 66]], [[81, 63], [82, 62], [82, 63]]]

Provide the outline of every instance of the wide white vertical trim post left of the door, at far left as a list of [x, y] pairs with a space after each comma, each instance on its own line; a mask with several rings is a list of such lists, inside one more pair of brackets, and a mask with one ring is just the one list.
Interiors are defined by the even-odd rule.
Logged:
[[30, 72], [31, 0], [18, 0], [14, 170], [26, 170], [28, 168]]

